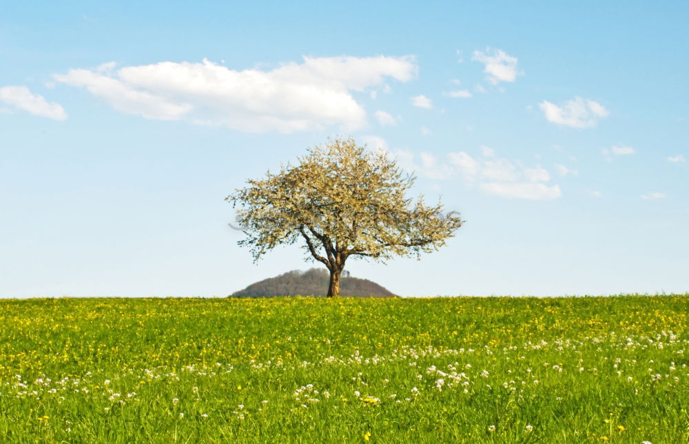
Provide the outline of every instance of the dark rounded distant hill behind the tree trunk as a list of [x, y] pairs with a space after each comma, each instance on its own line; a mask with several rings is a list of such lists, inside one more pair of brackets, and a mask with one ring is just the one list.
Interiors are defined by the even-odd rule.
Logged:
[[[368, 279], [351, 277], [342, 272], [340, 277], [340, 296], [345, 297], [395, 297], [386, 288]], [[232, 297], [273, 297], [273, 296], [324, 296], [328, 292], [329, 273], [322, 268], [307, 271], [288, 271], [276, 277], [255, 282], [244, 290], [232, 293]]]

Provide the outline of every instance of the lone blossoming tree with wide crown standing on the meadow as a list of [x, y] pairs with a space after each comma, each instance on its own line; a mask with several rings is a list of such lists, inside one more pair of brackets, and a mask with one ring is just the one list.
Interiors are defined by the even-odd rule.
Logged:
[[408, 198], [414, 181], [384, 151], [337, 138], [309, 149], [298, 165], [248, 180], [225, 200], [240, 207], [245, 238], [238, 244], [249, 246], [254, 262], [275, 246], [302, 242], [307, 256], [327, 267], [327, 296], [336, 297], [349, 258], [420, 258], [462, 226], [460, 218], [442, 215], [440, 201]]

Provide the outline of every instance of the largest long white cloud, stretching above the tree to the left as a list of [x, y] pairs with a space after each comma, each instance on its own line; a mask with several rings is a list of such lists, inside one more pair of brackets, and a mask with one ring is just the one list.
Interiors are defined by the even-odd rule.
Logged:
[[417, 70], [411, 56], [339, 56], [304, 57], [302, 63], [284, 63], [269, 71], [229, 70], [205, 59], [119, 70], [105, 63], [54, 78], [85, 87], [125, 114], [289, 133], [327, 125], [365, 127], [366, 112], [351, 92], [382, 85], [386, 78], [406, 82]]

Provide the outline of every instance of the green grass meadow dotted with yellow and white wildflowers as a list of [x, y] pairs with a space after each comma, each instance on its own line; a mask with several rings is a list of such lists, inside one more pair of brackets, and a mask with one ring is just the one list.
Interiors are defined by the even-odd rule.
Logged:
[[3, 443], [686, 443], [689, 295], [0, 301]]

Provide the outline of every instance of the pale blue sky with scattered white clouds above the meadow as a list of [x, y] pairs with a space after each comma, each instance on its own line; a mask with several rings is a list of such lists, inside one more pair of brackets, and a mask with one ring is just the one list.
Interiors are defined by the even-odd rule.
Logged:
[[[561, 3], [561, 4], [555, 4]], [[347, 268], [400, 295], [689, 291], [689, 6], [14, 2], [0, 14], [0, 297], [225, 296], [225, 196], [329, 136], [468, 222]]]

